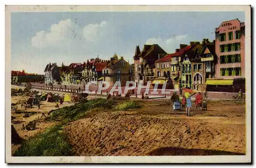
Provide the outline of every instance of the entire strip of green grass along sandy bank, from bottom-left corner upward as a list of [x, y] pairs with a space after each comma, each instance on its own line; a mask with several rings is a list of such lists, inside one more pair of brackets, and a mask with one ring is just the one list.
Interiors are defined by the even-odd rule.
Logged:
[[113, 100], [98, 98], [53, 110], [47, 119], [53, 121], [60, 118], [61, 123], [26, 140], [14, 156], [70, 156], [72, 155], [71, 146], [65, 134], [62, 133], [65, 124], [86, 116], [89, 111], [128, 110], [141, 107], [138, 102], [127, 101], [113, 108], [114, 103]]

